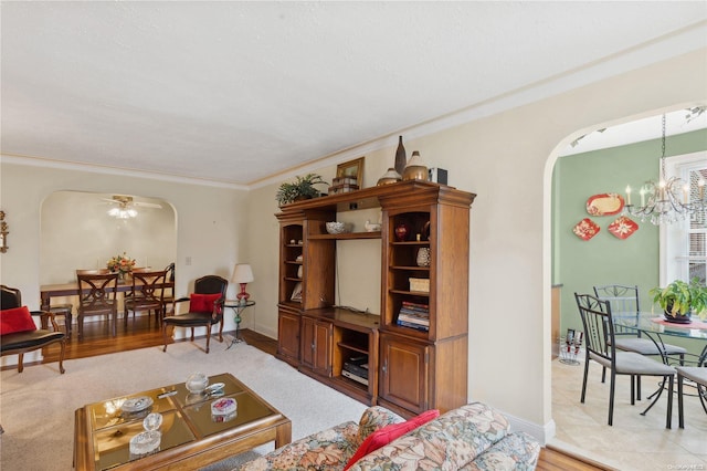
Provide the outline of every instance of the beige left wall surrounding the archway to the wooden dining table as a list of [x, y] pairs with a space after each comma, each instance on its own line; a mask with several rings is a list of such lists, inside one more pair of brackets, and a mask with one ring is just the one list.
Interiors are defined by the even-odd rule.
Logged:
[[[169, 202], [177, 218], [177, 295], [188, 295], [193, 281], [204, 274], [230, 279], [233, 265], [247, 253], [244, 234], [249, 228], [242, 223], [249, 195], [245, 190], [14, 165], [4, 160], [0, 168], [0, 205], [10, 230], [10, 249], [0, 259], [0, 282], [19, 287], [22, 301], [31, 308], [39, 308], [42, 283], [41, 207], [54, 191], [140, 195]], [[76, 260], [82, 260], [82, 249], [73, 247], [72, 250], [76, 251]], [[187, 258], [191, 259], [191, 265], [187, 265]], [[235, 294], [233, 286], [229, 293]], [[244, 317], [247, 323], [247, 314]], [[233, 328], [232, 316], [226, 313], [225, 320], [225, 329]], [[32, 359], [28, 357], [28, 360]], [[2, 365], [12, 362], [12, 357], [2, 358]]]

